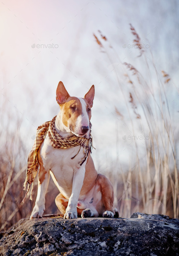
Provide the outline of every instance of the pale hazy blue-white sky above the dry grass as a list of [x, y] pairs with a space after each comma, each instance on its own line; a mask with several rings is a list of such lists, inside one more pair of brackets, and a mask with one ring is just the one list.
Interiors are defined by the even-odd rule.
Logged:
[[[120, 81], [127, 95], [129, 87], [123, 62], [134, 65], [146, 79], [149, 76], [144, 57], [138, 57], [140, 51], [133, 44], [131, 23], [140, 35], [147, 61], [154, 63], [157, 73], [165, 70], [171, 77], [166, 91], [177, 136], [178, 16], [177, 1], [3, 0], [0, 3], [1, 130], [8, 126], [15, 133], [16, 122], [20, 120], [20, 136], [28, 152], [37, 127], [59, 111], [58, 82], [61, 80], [69, 94], [77, 97], [84, 97], [94, 84], [91, 123], [96, 168], [103, 166], [103, 162], [105, 165], [106, 161], [112, 162], [119, 154], [121, 161], [128, 165], [133, 154], [129, 137], [131, 123], [118, 84]], [[97, 44], [93, 34], [103, 47]], [[153, 87], [150, 88], [155, 92], [156, 77], [153, 73], [151, 77]], [[149, 91], [146, 89], [146, 95], [141, 98], [149, 97]], [[127, 104], [129, 101], [128, 96]], [[129, 126], [124, 126], [115, 107]], [[140, 105], [137, 111], [142, 116]], [[132, 135], [138, 138], [144, 157], [140, 124], [136, 123], [136, 117], [132, 119], [135, 126]], [[143, 125], [148, 136], [148, 124], [144, 121]]]

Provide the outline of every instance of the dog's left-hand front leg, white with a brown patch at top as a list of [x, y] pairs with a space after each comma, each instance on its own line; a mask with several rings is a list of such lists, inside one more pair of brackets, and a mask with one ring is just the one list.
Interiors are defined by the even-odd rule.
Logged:
[[35, 201], [35, 206], [33, 208], [33, 211], [30, 215], [30, 219], [42, 218], [42, 214], [45, 211], [45, 195], [46, 195], [47, 187], [49, 185], [49, 178], [50, 178], [50, 172], [42, 172], [41, 169], [39, 170], [37, 198]]

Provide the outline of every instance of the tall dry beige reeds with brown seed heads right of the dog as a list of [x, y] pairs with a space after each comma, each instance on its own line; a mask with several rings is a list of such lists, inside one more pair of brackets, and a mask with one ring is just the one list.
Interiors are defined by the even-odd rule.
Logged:
[[[140, 129], [143, 135], [148, 135], [149, 139], [145, 140], [145, 154], [144, 152], [142, 154], [145, 155], [145, 159], [140, 161], [141, 153], [134, 139], [135, 160], [130, 163], [129, 169], [123, 171], [120, 161], [117, 160], [114, 167], [117, 168], [117, 171], [114, 172], [112, 168], [110, 174], [106, 173], [106, 175], [113, 181], [116, 193], [115, 201], [118, 203], [121, 217], [130, 217], [133, 212], [140, 211], [150, 214], [167, 214], [170, 217], [178, 218], [179, 172], [177, 171], [175, 147], [178, 138], [174, 137], [165, 87], [165, 84], [168, 84], [171, 78], [161, 70], [161, 75], [164, 77], [164, 80], [162, 80], [154, 64], [151, 51], [146, 54], [140, 37], [131, 24], [130, 29], [134, 35], [133, 43], [140, 52], [138, 57], [142, 58], [143, 71], [147, 70], [148, 77], [144, 79], [133, 65], [124, 62], [123, 71], [127, 77], [128, 95], [127, 90], [124, 90], [120, 83], [117, 68], [113, 65], [108, 51], [96, 35], [95, 39], [97, 42], [99, 41], [100, 47], [103, 47], [103, 51], [106, 52], [115, 71], [118, 87], [128, 112], [128, 119], [123, 119], [123, 123], [126, 122], [126, 127], [132, 127], [132, 134], [137, 134], [137, 130]], [[117, 53], [116, 56], [119, 62], [122, 63]], [[140, 114], [137, 112], [137, 107], [140, 107]], [[115, 109], [119, 118], [124, 116], [121, 114], [120, 106], [115, 106]]]

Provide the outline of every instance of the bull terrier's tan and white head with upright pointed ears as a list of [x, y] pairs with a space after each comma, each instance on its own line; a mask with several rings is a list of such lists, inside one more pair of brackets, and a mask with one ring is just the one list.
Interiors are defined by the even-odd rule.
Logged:
[[60, 81], [56, 89], [56, 101], [61, 109], [61, 121], [66, 131], [78, 137], [88, 136], [91, 119], [91, 108], [94, 99], [94, 85], [84, 98], [70, 97], [63, 83]]

